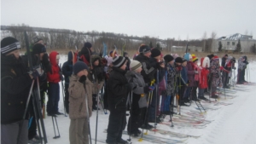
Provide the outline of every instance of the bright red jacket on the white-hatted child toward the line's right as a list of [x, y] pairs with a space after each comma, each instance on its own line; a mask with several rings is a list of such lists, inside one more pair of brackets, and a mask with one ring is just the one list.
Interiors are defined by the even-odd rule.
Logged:
[[200, 66], [200, 72], [199, 72], [199, 84], [198, 87], [200, 89], [207, 89], [208, 88], [208, 74], [209, 74], [209, 70], [207, 70], [207, 67], [203, 67], [202, 63], [203, 63], [204, 58], [201, 58], [201, 66]]

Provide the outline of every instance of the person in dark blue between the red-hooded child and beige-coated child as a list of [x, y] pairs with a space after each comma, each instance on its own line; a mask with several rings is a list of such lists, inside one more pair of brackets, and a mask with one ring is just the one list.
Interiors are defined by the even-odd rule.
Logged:
[[73, 74], [73, 51], [69, 51], [67, 53], [67, 61], [64, 62], [62, 68], [62, 74], [64, 75], [65, 79], [65, 100], [64, 100], [64, 106], [66, 109], [66, 112], [69, 112], [69, 93], [68, 93], [68, 85], [69, 85], [69, 78]]

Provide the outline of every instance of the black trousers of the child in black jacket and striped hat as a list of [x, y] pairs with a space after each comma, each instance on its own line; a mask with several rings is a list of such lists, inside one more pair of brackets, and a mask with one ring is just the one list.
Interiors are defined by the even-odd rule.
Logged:
[[110, 110], [110, 115], [108, 118], [108, 135], [107, 142], [115, 143], [120, 141], [122, 138], [123, 130], [125, 130], [126, 125], [126, 110]]

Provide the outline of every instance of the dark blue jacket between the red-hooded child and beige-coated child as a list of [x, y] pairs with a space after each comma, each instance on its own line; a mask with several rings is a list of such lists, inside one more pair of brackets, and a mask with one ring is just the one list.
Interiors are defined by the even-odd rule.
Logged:
[[67, 61], [62, 66], [62, 74], [65, 77], [65, 84], [69, 84], [69, 77], [71, 77], [73, 73], [73, 55], [72, 52], [68, 52], [67, 54]]

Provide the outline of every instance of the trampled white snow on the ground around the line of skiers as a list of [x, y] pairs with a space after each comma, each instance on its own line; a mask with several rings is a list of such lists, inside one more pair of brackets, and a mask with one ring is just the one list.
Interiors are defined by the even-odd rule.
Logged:
[[[60, 63], [63, 64], [67, 60], [66, 55], [61, 55]], [[250, 75], [251, 82], [256, 83], [256, 62], [250, 62]], [[247, 78], [247, 76], [245, 76]], [[61, 85], [61, 83], [60, 83]], [[206, 120], [211, 120], [210, 124], [205, 127], [195, 127], [189, 128], [185, 126], [178, 126], [174, 121], [174, 127], [167, 126], [165, 124], [158, 124], [157, 129], [175, 131], [178, 133], [188, 134], [188, 135], [201, 135], [199, 138], [195, 139], [189, 137], [183, 143], [189, 144], [253, 144], [256, 143], [256, 85], [240, 85], [240, 89], [247, 89], [246, 91], [237, 91], [234, 94], [236, 96], [234, 99], [220, 99], [219, 101], [225, 103], [232, 103], [231, 105], [224, 106], [218, 105], [214, 106], [214, 103], [202, 103], [209, 107], [218, 108], [217, 110], [207, 110], [207, 113], [203, 114]], [[206, 96], [207, 97], [207, 96]], [[61, 100], [59, 102], [60, 112], [64, 112], [62, 91]], [[182, 107], [182, 115], [187, 115], [185, 112], [198, 111], [195, 109], [195, 103], [192, 103], [190, 107]], [[199, 111], [198, 111], [199, 112]], [[109, 112], [108, 112], [109, 114]], [[104, 114], [99, 111], [99, 123], [98, 123], [98, 140], [105, 141], [107, 134], [103, 131], [108, 127], [108, 114]], [[128, 117], [127, 117], [128, 118]], [[199, 117], [201, 118], [201, 116]], [[168, 121], [169, 117], [166, 116], [165, 121]], [[49, 144], [68, 144], [69, 143], [69, 117], [64, 115], [57, 117], [59, 130], [61, 137], [59, 139], [53, 139], [55, 136], [53, 124], [51, 117], [46, 116], [44, 119], [45, 129], [47, 133]], [[93, 112], [90, 118], [90, 130], [91, 136], [94, 139], [96, 135], [96, 111]], [[185, 140], [177, 138], [171, 135], [161, 135], [160, 133], [155, 133], [152, 131], [148, 132], [148, 135], [156, 135], [163, 138], [168, 138], [172, 140]], [[128, 135], [123, 135], [123, 139], [127, 139]], [[138, 139], [132, 138], [132, 143], [135, 144], [146, 144], [152, 143], [149, 141], [138, 141]], [[95, 141], [92, 141], [95, 143]], [[102, 143], [97, 141], [97, 143]], [[155, 142], [154, 142], [155, 143]], [[161, 143], [161, 142], [159, 142]]]

